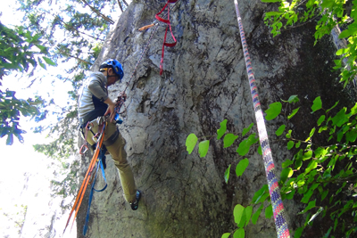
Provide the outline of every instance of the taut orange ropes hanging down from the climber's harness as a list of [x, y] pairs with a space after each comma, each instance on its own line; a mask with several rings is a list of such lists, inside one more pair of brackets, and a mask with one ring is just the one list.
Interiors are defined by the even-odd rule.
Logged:
[[[79, 212], [79, 207], [80, 207], [80, 204], [82, 203], [82, 200], [83, 200], [83, 197], [84, 197], [84, 194], [86, 193], [86, 190], [87, 190], [87, 185], [89, 184], [89, 181], [90, 181], [90, 178], [91, 176], [93, 176], [93, 170], [95, 168], [95, 162], [97, 161], [98, 159], [98, 155], [99, 153], [101, 152], [101, 148], [102, 148], [102, 145], [103, 145], [103, 142], [104, 142], [104, 131], [105, 131], [105, 126], [106, 126], [106, 122], [104, 122], [105, 120], [103, 119], [104, 117], [101, 117], [101, 118], [98, 118], [97, 119], [97, 123], [99, 126], [101, 126], [102, 128], [99, 129], [98, 131], [100, 131], [100, 133], [97, 133], [95, 136], [97, 137], [97, 142], [96, 142], [96, 148], [95, 148], [95, 152], [94, 152], [94, 155], [92, 157], [92, 160], [90, 161], [89, 163], [89, 167], [87, 169], [87, 173], [86, 173], [86, 176], [84, 177], [83, 179], [83, 182], [82, 182], [82, 185], [80, 186], [80, 189], [79, 189], [79, 193], [77, 194], [77, 198], [76, 198], [76, 201], [74, 201], [74, 204], [73, 204], [73, 207], [71, 209], [71, 213], [70, 213], [70, 216], [68, 217], [68, 220], [67, 220], [67, 223], [66, 223], [66, 226], [64, 227], [64, 230], [63, 230], [63, 234], [64, 232], [66, 231], [66, 228], [67, 226], [69, 225], [70, 223], [70, 220], [71, 220], [71, 216], [72, 214], [74, 213], [74, 217], [73, 217], [73, 223], [72, 223], [72, 226], [74, 224], [74, 221], [77, 217], [77, 214]], [[102, 123], [101, 123], [102, 122]], [[87, 127], [89, 127], [88, 124], [90, 124], [91, 122], [88, 122], [87, 123]], [[105, 153], [105, 152], [104, 152]], [[102, 154], [104, 154], [102, 152]], [[100, 158], [100, 160], [98, 161], [98, 165], [97, 165], [97, 169], [99, 168], [99, 166], [102, 165], [102, 168], [103, 168], [103, 164], [102, 164], [102, 158]], [[97, 170], [96, 169], [96, 170]], [[96, 174], [96, 173], [95, 173]], [[104, 176], [104, 180], [105, 180], [105, 176]], [[106, 181], [105, 181], [106, 182]], [[94, 188], [94, 185], [95, 185], [95, 182], [93, 183], [93, 188]], [[106, 186], [105, 186], [106, 187]], [[105, 188], [104, 188], [105, 189]], [[103, 190], [104, 190], [103, 189]], [[90, 205], [89, 205], [90, 206]], [[89, 215], [87, 215], [89, 216]]]

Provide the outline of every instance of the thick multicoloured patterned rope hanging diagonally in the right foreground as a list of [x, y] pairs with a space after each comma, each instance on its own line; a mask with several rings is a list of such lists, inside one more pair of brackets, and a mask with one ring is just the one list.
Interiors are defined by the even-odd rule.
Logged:
[[283, 201], [281, 201], [280, 190], [278, 188], [278, 178], [275, 175], [274, 161], [270, 150], [267, 129], [265, 127], [264, 118], [262, 115], [262, 107], [258, 97], [257, 86], [255, 85], [252, 63], [249, 57], [248, 47], [245, 41], [245, 31], [243, 29], [242, 21], [240, 18], [237, 0], [235, 0], [235, 5], [236, 5], [240, 37], [242, 40], [243, 51], [245, 53], [246, 72], [248, 74], [249, 85], [251, 87], [251, 95], [252, 95], [253, 107], [255, 111], [255, 119], [257, 121], [259, 139], [262, 146], [262, 158], [264, 160], [265, 173], [269, 185], [270, 200], [274, 212], [275, 226], [277, 228], [278, 238], [288, 238], [290, 237], [290, 233], [284, 215], [285, 214], [284, 205], [283, 205]]

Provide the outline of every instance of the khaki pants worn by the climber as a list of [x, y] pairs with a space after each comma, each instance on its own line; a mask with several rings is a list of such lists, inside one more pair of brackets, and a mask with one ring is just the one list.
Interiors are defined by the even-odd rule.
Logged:
[[[107, 127], [104, 132], [104, 142], [115, 133], [117, 126], [115, 123], [108, 121]], [[96, 134], [98, 132], [98, 126], [92, 127], [92, 131]], [[87, 135], [87, 142], [89, 144], [95, 144], [92, 139], [94, 135], [89, 130]], [[120, 183], [124, 192], [124, 198], [126, 201], [135, 201], [137, 194], [137, 187], [135, 185], [133, 172], [128, 164], [127, 152], [124, 150], [126, 144], [125, 139], [119, 134], [115, 142], [110, 146], [105, 146], [108, 152], [112, 155], [115, 166], [119, 169]]]

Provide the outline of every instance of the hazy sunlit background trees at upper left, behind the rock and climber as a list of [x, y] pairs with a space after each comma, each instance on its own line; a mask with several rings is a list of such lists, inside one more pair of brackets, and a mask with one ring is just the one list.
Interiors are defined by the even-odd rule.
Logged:
[[[125, 0], [65, 0], [60, 2], [18, 0], [17, 3], [21, 4], [19, 11], [24, 14], [23, 27], [19, 28], [17, 35], [15, 34], [17, 38], [4, 37], [2, 33], [0, 54], [3, 56], [1, 51], [3, 42], [7, 40], [5, 43], [8, 44], [6, 49], [9, 55], [18, 55], [19, 62], [14, 62], [12, 59], [3, 62], [11, 63], [10, 66], [17, 67], [14, 70], [27, 71], [30, 69], [31, 74], [29, 76], [31, 77], [37, 65], [46, 69], [46, 65], [61, 64], [64, 70], [57, 74], [56, 79], [71, 81], [73, 86], [73, 90], [68, 92], [72, 102], [59, 112], [51, 111], [51, 114], [57, 115], [57, 121], [50, 126], [48, 134], [48, 136], [54, 138], [54, 141], [50, 144], [34, 145], [37, 152], [43, 152], [62, 163], [62, 170], [59, 172], [61, 175], [58, 175], [58, 181], [52, 181], [52, 185], [55, 194], [66, 197], [73, 195], [77, 190], [77, 172], [79, 170], [77, 161], [68, 162], [69, 160], [67, 160], [76, 152], [76, 139], [78, 137], [78, 111], [74, 102], [78, 99], [78, 91], [85, 77], [85, 70], [89, 70], [95, 62], [95, 58], [98, 57], [104, 45], [109, 26], [114, 23], [112, 16], [104, 15], [103, 12], [108, 9], [110, 9], [110, 14], [118, 12], [118, 5], [123, 12], [128, 4]], [[118, 16], [118, 14], [116, 15]], [[6, 34], [10, 35], [9, 32], [13, 33], [9, 29]], [[21, 45], [22, 42], [24, 45]], [[16, 45], [19, 45], [19, 47], [14, 47]], [[32, 48], [37, 49], [37, 52]], [[19, 53], [13, 53], [17, 49], [19, 49]], [[0, 65], [0, 76], [7, 74], [9, 71], [7, 69], [10, 67], [9, 65], [6, 65], [6, 68], [2, 66], [3, 64]], [[46, 113], [49, 111], [41, 112], [43, 104], [36, 111], [36, 108], [28, 107], [24, 101], [18, 102], [15, 101], [16, 98], [10, 99], [8, 94], [10, 93], [2, 93], [0, 103], [12, 102], [14, 107], [19, 107], [19, 105], [23, 107], [21, 109], [10, 107], [12, 111], [8, 111], [6, 115], [13, 115], [13, 119], [7, 119], [8, 127], [4, 129], [3, 125], [0, 127], [1, 135], [4, 136], [7, 133], [10, 136], [8, 141], [12, 141], [11, 133], [23, 133], [18, 129], [18, 118], [15, 117], [19, 112], [24, 114], [25, 111], [30, 111], [37, 116], [37, 119], [45, 119]], [[33, 106], [35, 103], [28, 101], [28, 104]], [[6, 108], [9, 108], [9, 106], [6, 105]], [[43, 131], [46, 128], [48, 127], [41, 125], [36, 127], [35, 132]], [[19, 133], [14, 135], [20, 137]]]

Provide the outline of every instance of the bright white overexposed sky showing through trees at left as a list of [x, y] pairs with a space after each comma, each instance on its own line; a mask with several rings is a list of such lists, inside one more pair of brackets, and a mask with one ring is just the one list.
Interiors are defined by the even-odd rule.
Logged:
[[[13, 10], [14, 2], [13, 0], [0, 0], [0, 12], [3, 12], [0, 21], [8, 27], [21, 25], [21, 17], [16, 17], [19, 13], [14, 13]], [[28, 78], [16, 74], [6, 76], [3, 78], [1, 89], [14, 90], [16, 97], [21, 99], [33, 98], [34, 94], [40, 93], [47, 99], [54, 97], [57, 105], [65, 106], [71, 84], [70, 82], [53, 84], [54, 75], [51, 75], [51, 72], [55, 70], [54, 67], [47, 66], [47, 71], [42, 70], [46, 78], [37, 81], [29, 88], [27, 88]], [[49, 210], [54, 209], [55, 206], [60, 207], [61, 204], [61, 201], [51, 197], [50, 181], [54, 178], [54, 171], [58, 169], [54, 159], [46, 158], [44, 154], [35, 152], [32, 147], [33, 144], [48, 143], [50, 139], [46, 138], [46, 132], [32, 133], [31, 127], [36, 126], [35, 122], [25, 119], [21, 119], [21, 129], [27, 131], [27, 134], [23, 135], [24, 144], [21, 144], [15, 137], [11, 146], [5, 145], [6, 136], [0, 139], [2, 152], [0, 156], [2, 164], [0, 167], [0, 237], [19, 237], [19, 229], [15, 221], [23, 219], [24, 206], [28, 206], [27, 223], [30, 224], [26, 226], [25, 223], [25, 229], [22, 230], [25, 234], [22, 237], [39, 237], [35, 235], [40, 235], [38, 230], [43, 228], [41, 226], [51, 222], [52, 217], [49, 216], [53, 215], [49, 213]], [[36, 224], [31, 223], [33, 220], [36, 220]], [[64, 228], [64, 220], [61, 223]], [[58, 234], [55, 237], [59, 237]], [[71, 234], [66, 232], [63, 237], [74, 238], [76, 236], [74, 227]]]

